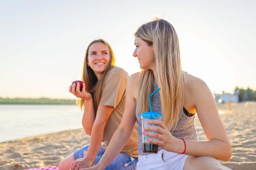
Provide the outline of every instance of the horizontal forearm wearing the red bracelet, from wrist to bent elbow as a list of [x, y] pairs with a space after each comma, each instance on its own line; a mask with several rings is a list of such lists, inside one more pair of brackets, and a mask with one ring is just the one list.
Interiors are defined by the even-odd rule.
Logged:
[[[187, 155], [192, 156], [211, 156], [218, 160], [228, 161], [231, 157], [232, 151], [228, 143], [212, 139], [207, 141], [186, 140]], [[184, 142], [179, 139], [177, 144], [177, 153], [183, 153]]]

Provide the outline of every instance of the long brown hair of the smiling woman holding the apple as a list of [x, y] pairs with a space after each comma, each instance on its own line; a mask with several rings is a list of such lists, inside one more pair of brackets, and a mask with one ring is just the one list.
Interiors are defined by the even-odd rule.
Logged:
[[[91, 45], [94, 44], [94, 43], [103, 43], [103, 44], [105, 44], [107, 46], [108, 50], [109, 50], [109, 56], [110, 56], [109, 63], [107, 64], [107, 67], [106, 67], [106, 69], [105, 69], [105, 71], [104, 71], [104, 73], [103, 73], [103, 75], [102, 75], [102, 77], [99, 81], [98, 81], [94, 71], [92, 70], [92, 68], [87, 66], [88, 51], [89, 51], [89, 48], [91, 47]], [[106, 42], [103, 39], [96, 39], [88, 45], [87, 50], [85, 52], [84, 62], [83, 62], [81, 81], [83, 81], [85, 83], [85, 87], [86, 87], [85, 90], [90, 92], [93, 96], [93, 105], [94, 105], [95, 113], [97, 112], [97, 108], [98, 108], [98, 104], [99, 104], [99, 101], [100, 101], [100, 98], [101, 98], [105, 78], [106, 78], [109, 70], [111, 68], [113, 68], [115, 66], [115, 64], [116, 64], [116, 58], [115, 58], [115, 55], [114, 55], [114, 51], [112, 50], [112, 47], [110, 46], [110, 44], [108, 42]], [[83, 99], [78, 99], [77, 104], [79, 105], [79, 107], [81, 109], [83, 109], [84, 100]]]

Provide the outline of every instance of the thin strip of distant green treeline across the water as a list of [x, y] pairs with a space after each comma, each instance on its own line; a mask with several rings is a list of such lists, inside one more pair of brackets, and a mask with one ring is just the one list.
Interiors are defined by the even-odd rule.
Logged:
[[49, 98], [0, 98], [0, 104], [76, 104], [76, 100]]

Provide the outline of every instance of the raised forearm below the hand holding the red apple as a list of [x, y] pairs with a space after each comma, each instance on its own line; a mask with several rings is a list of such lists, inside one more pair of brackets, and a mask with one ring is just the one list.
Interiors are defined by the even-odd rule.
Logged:
[[93, 100], [84, 101], [82, 125], [85, 130], [85, 133], [89, 136], [91, 136], [94, 121], [95, 112], [93, 107]]

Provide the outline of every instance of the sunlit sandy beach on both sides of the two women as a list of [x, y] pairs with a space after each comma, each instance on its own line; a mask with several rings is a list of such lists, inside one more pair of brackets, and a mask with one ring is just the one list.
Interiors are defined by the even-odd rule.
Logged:
[[[230, 161], [221, 163], [233, 170], [256, 170], [256, 102], [219, 104], [218, 109], [233, 151]], [[197, 117], [195, 121], [199, 139], [205, 139]], [[2, 142], [0, 170], [55, 166], [89, 141], [83, 129], [77, 129]]]

